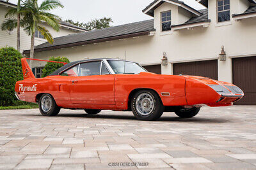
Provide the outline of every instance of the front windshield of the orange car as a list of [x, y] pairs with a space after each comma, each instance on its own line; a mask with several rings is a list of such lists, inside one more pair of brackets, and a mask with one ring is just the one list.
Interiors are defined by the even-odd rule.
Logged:
[[135, 62], [122, 61], [122, 60], [108, 60], [109, 65], [115, 74], [137, 74], [147, 72], [143, 67]]

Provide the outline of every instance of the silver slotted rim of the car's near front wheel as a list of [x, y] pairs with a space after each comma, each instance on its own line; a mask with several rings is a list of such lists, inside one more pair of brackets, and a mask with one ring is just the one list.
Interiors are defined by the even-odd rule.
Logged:
[[154, 99], [150, 94], [143, 93], [136, 99], [136, 110], [140, 115], [147, 116], [154, 110]]

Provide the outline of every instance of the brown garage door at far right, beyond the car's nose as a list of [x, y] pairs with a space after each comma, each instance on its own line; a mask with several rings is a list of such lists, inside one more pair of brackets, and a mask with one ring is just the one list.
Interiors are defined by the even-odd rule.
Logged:
[[256, 104], [256, 57], [232, 59], [233, 83], [244, 92], [244, 97], [236, 104]]

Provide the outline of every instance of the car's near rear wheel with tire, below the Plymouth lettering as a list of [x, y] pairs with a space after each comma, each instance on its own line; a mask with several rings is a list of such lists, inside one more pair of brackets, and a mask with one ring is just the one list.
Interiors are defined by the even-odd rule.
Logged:
[[55, 117], [60, 113], [60, 107], [57, 106], [51, 94], [43, 94], [38, 102], [40, 113], [47, 117]]

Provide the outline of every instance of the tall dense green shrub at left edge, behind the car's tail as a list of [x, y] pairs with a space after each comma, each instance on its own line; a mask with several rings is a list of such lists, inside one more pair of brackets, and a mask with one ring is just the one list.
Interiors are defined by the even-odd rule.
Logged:
[[0, 48], [0, 106], [10, 106], [16, 99], [15, 83], [23, 79], [21, 58], [13, 47]]

